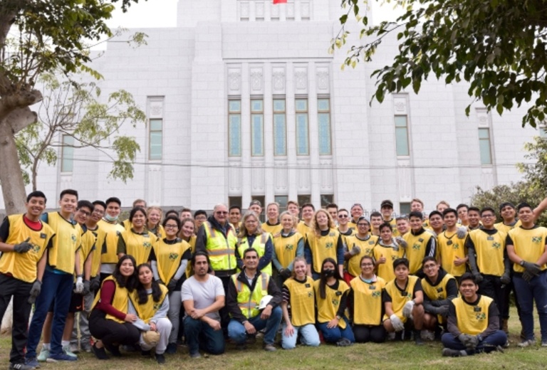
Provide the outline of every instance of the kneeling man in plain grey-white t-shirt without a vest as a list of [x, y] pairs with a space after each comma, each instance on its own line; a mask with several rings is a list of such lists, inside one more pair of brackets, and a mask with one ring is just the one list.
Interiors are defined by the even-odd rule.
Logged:
[[190, 357], [201, 357], [199, 349], [210, 354], [224, 353], [224, 334], [220, 327], [219, 310], [224, 307], [222, 280], [209, 275], [209, 256], [197, 252], [192, 258], [194, 275], [182, 284], [184, 336]]

